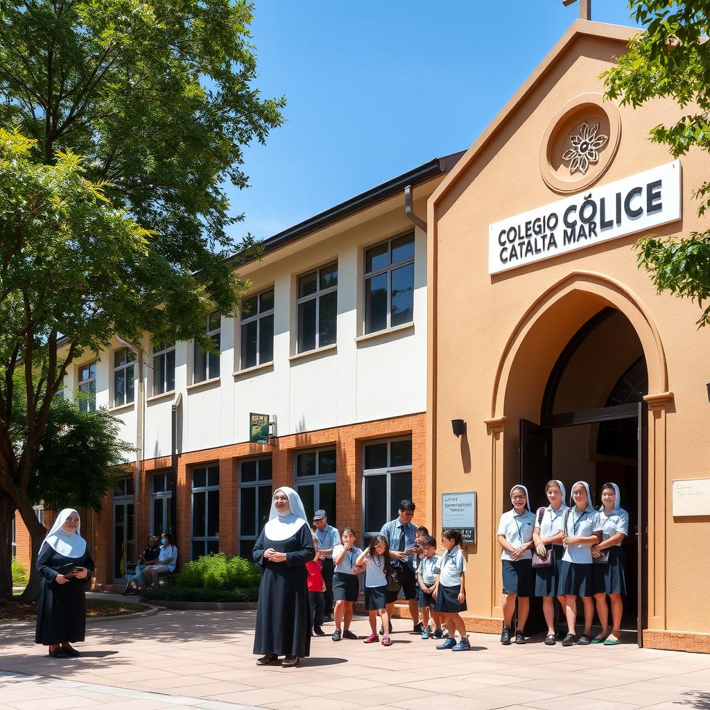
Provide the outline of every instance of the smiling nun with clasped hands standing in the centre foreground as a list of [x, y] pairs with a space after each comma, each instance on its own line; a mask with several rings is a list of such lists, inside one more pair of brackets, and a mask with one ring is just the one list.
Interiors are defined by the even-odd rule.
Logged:
[[313, 536], [298, 493], [286, 486], [277, 488], [253, 550], [254, 562], [262, 567], [254, 653], [263, 656], [257, 665], [283, 655], [281, 665], [295, 666], [299, 658], [310, 655], [306, 562], [314, 557]]

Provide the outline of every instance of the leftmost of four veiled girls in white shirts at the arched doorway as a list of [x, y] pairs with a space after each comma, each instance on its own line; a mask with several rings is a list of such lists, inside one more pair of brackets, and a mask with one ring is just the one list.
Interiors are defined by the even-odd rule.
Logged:
[[501, 643], [510, 644], [513, 633], [515, 597], [518, 597], [518, 630], [515, 643], [525, 643], [525, 622], [530, 611], [530, 597], [535, 594], [535, 579], [532, 574], [532, 530], [535, 515], [530, 512], [528, 488], [510, 488], [510, 503], [513, 508], [501, 515], [498, 523], [498, 545], [501, 545], [503, 560], [503, 633]]

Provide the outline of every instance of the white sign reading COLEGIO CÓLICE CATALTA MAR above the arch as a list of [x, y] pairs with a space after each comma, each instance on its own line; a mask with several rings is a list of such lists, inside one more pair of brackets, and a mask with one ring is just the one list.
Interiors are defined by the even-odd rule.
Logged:
[[488, 227], [488, 273], [680, 219], [680, 161], [594, 187]]

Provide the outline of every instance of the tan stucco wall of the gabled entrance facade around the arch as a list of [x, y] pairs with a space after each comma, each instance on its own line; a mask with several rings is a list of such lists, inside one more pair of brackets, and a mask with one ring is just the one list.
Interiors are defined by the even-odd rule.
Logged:
[[[617, 305], [637, 301], [639, 307], [628, 305], [626, 315], [637, 324], [646, 349], [649, 392], [660, 394], [667, 387], [674, 393], [666, 410], [649, 415], [653, 449], [649, 478], [655, 497], [650, 506], [648, 626], [710, 634], [710, 616], [698, 613], [696, 601], [701, 594], [698, 585], [706, 585], [707, 592], [708, 583], [694, 579], [697, 540], [707, 538], [710, 521], [670, 516], [672, 479], [706, 475], [704, 461], [710, 457], [710, 404], [705, 390], [710, 380], [710, 332], [695, 326], [697, 305], [655, 293], [647, 273], [637, 268], [631, 249], [640, 234], [488, 275], [488, 225], [561, 197], [547, 187], [539, 168], [540, 141], [552, 117], [579, 94], [601, 93], [599, 75], [623, 48], [624, 43], [616, 39], [578, 35], [469, 166], [454, 180], [445, 181], [430, 200], [430, 308], [435, 307], [430, 321], [432, 486], [437, 505], [443, 492], [478, 491], [479, 532], [477, 544], [468, 547], [467, 603], [472, 616], [500, 618], [500, 550], [494, 533], [498, 515], [510, 505], [508, 488], [518, 476], [518, 418], [540, 420], [540, 400], [550, 369], [569, 338], [594, 312], [614, 301]], [[597, 185], [672, 160], [665, 148], [650, 143], [648, 132], [680, 115], [673, 102], [619, 110], [621, 143]], [[706, 155], [698, 151], [682, 158], [682, 221], [660, 228], [657, 234], [705, 228], [697, 217], [692, 191], [706, 178], [708, 167]], [[603, 278], [572, 275], [581, 271]], [[564, 297], [547, 310], [528, 313], [565, 278], [569, 283]], [[610, 298], [614, 295], [614, 301], [606, 293]], [[509, 344], [516, 329], [525, 332], [531, 320], [536, 322], [528, 336]], [[497, 403], [493, 401], [496, 391]], [[508, 419], [489, 422], [487, 427], [486, 420], [494, 417]], [[452, 435], [452, 418], [468, 422], [466, 439]], [[532, 503], [542, 503], [542, 491], [531, 491], [531, 496]], [[438, 520], [436, 508], [434, 515]]]

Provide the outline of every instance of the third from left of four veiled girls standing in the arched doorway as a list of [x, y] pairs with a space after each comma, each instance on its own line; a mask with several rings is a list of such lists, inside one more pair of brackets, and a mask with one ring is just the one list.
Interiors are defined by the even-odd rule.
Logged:
[[[559, 566], [559, 586], [557, 594], [564, 595], [564, 615], [567, 617], [567, 635], [563, 646], [574, 643], [586, 646], [591, 643], [591, 620], [594, 617], [592, 598], [592, 557], [591, 546], [601, 540], [601, 523], [596, 510], [591, 507], [591, 493], [586, 481], [577, 481], [572, 486], [571, 507], [564, 511], [562, 545], [564, 555]], [[584, 604], [584, 633], [577, 635], [577, 597]]]

